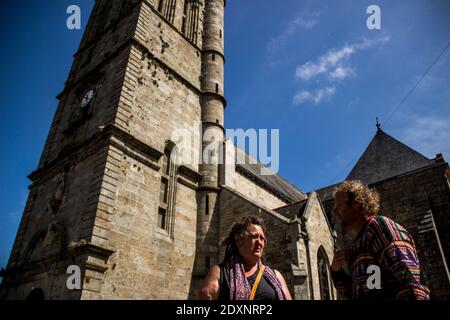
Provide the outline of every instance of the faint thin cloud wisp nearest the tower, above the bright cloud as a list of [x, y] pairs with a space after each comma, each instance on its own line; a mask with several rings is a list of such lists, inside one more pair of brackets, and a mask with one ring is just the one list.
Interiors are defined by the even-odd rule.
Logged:
[[287, 23], [285, 29], [279, 35], [270, 39], [268, 44], [269, 51], [276, 51], [284, 46], [295, 33], [314, 28], [319, 23], [317, 16], [317, 13], [306, 14], [303, 11], [299, 12], [294, 19]]

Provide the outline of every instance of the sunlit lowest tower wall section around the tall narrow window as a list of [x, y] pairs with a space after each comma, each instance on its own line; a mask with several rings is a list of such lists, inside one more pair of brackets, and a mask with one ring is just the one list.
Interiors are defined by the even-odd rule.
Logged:
[[196, 241], [195, 189], [177, 184], [169, 235], [157, 225], [161, 176], [156, 165], [126, 141], [110, 147], [90, 241], [114, 253], [103, 279], [86, 277], [82, 299], [188, 298]]

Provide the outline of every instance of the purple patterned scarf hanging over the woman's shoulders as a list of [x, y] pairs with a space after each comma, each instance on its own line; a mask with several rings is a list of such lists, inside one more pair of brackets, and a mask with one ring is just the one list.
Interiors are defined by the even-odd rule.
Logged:
[[[230, 300], [248, 300], [251, 288], [245, 276], [244, 266], [240, 257], [232, 256], [226, 263], [226, 267], [230, 270]], [[268, 266], [265, 266], [263, 276], [275, 289], [278, 300], [284, 300], [283, 289], [275, 272]]]

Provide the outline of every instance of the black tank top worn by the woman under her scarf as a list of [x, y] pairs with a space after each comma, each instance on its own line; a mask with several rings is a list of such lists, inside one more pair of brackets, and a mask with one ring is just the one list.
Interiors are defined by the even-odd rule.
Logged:
[[[221, 263], [220, 267], [220, 300], [230, 300], [230, 272], [225, 267], [225, 264]], [[256, 277], [258, 276], [259, 268], [250, 277], [247, 278], [250, 288], [253, 288]], [[256, 289], [254, 300], [277, 300], [277, 293], [271, 284], [266, 280], [265, 277], [261, 278], [259, 282], [258, 289]]]

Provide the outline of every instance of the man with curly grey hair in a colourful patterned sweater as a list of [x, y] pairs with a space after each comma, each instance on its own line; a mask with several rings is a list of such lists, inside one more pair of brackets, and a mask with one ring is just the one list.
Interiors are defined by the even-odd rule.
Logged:
[[[341, 297], [428, 300], [414, 241], [402, 226], [379, 213], [379, 194], [360, 181], [345, 181], [334, 200], [342, 231], [354, 235], [351, 248], [336, 251], [331, 264]], [[345, 264], [350, 275], [343, 269]]]

